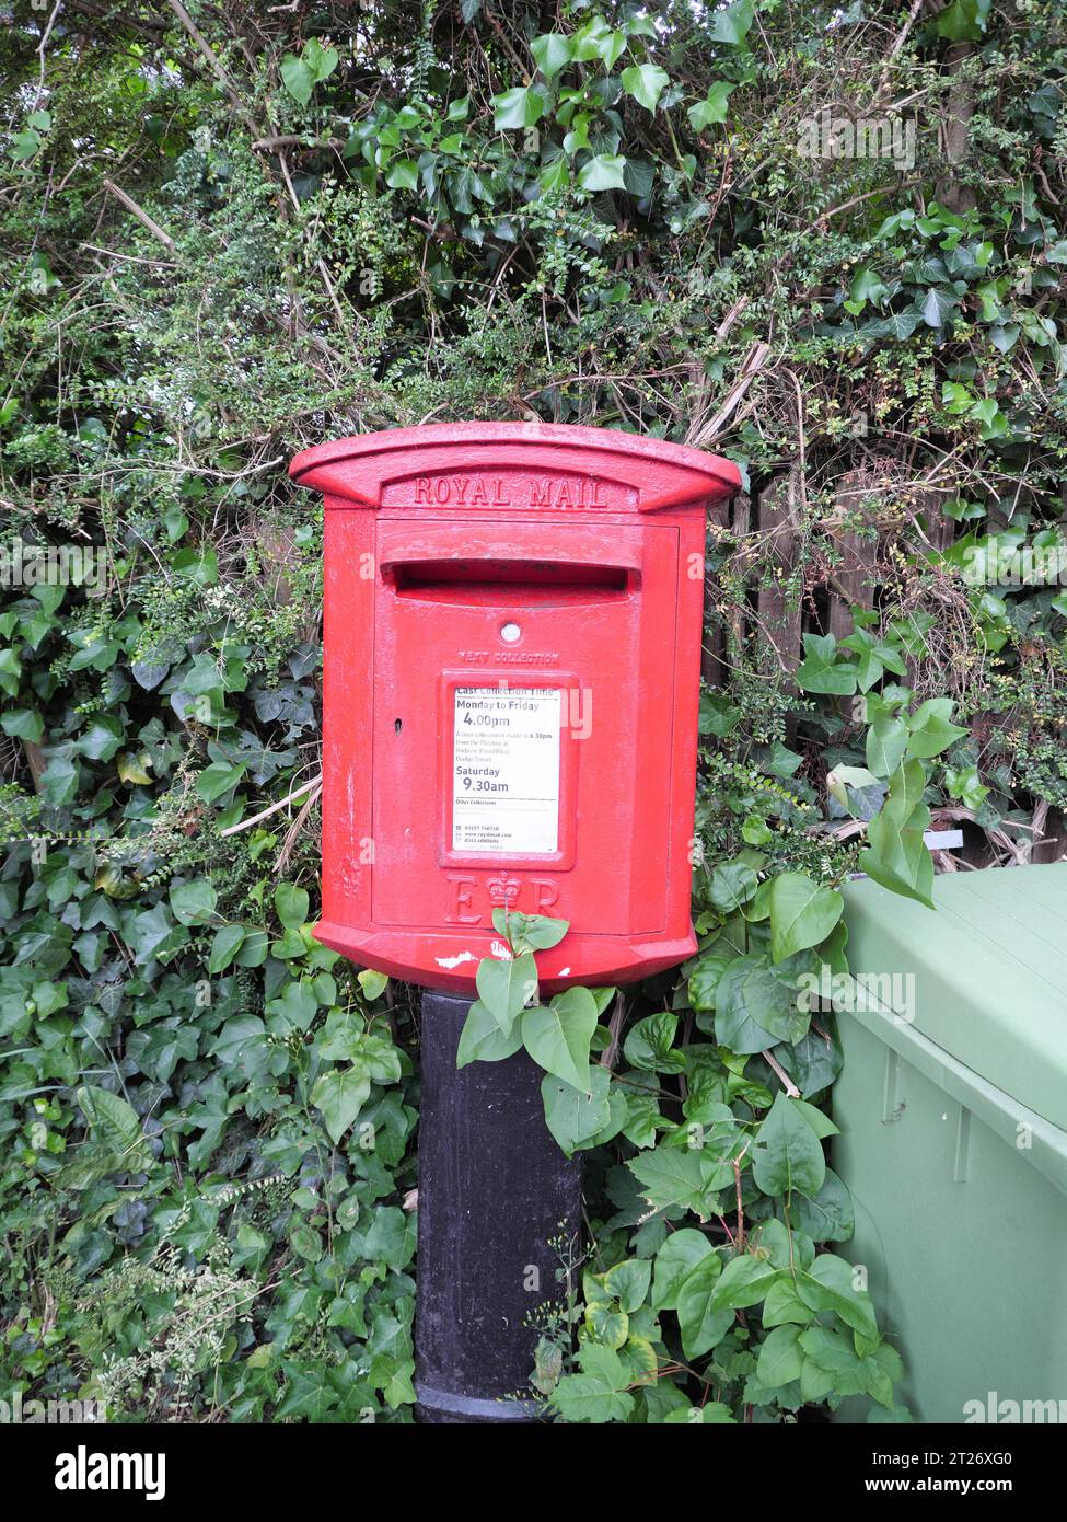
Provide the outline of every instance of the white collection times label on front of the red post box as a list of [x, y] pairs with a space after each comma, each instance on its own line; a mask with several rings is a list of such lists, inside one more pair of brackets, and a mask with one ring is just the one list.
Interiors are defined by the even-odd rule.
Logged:
[[458, 686], [452, 743], [452, 849], [559, 851], [557, 686]]

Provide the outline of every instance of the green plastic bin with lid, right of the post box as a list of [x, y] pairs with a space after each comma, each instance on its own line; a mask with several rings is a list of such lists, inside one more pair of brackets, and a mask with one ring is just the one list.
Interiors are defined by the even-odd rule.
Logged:
[[[834, 1167], [916, 1422], [1067, 1422], [1067, 864], [845, 890]], [[846, 1402], [836, 1420], [862, 1420]]]

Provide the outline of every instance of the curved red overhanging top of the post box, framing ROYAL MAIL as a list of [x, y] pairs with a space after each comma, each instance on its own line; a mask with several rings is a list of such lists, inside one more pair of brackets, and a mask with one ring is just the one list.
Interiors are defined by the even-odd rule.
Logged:
[[741, 487], [732, 461], [700, 449], [612, 428], [539, 422], [428, 423], [358, 434], [304, 449], [289, 475], [327, 498], [376, 508], [390, 481], [496, 467], [606, 478], [629, 489], [629, 510], [639, 513], [729, 498]]

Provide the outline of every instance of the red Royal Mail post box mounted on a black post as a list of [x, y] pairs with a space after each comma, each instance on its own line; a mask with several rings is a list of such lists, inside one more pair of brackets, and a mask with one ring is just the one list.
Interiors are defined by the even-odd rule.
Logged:
[[737, 467], [461, 423], [291, 473], [326, 499], [318, 939], [460, 992], [499, 907], [571, 921], [548, 989], [686, 957], [705, 521]]

